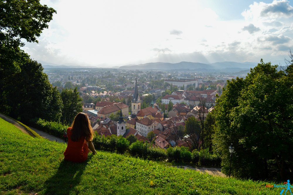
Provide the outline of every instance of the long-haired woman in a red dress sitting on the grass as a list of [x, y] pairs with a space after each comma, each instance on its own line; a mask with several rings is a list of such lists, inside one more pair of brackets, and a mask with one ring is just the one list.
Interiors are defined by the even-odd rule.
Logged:
[[67, 129], [68, 144], [64, 152], [64, 159], [73, 162], [84, 162], [88, 157], [88, 149], [96, 154], [93, 146], [93, 129], [88, 116], [78, 113]]

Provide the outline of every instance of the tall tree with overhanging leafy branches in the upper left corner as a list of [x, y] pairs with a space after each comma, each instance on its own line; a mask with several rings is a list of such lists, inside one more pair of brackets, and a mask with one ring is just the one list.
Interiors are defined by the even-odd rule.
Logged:
[[39, 1], [1, 1], [0, 8], [0, 112], [7, 114], [11, 109], [8, 96], [16, 92], [11, 88], [11, 77], [30, 62], [29, 55], [20, 49], [22, 39], [38, 42], [56, 11]]

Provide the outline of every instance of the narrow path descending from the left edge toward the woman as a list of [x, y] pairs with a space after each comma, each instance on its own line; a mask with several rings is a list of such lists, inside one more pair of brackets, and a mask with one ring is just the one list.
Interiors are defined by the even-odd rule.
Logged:
[[[30, 133], [25, 129], [25, 127], [22, 126], [21, 124], [19, 124], [14, 119], [9, 118], [9, 117], [1, 114], [1, 113], [0, 113], [0, 117], [2, 119], [4, 119], [5, 121], [13, 124], [16, 128], [18, 128], [19, 130], [21, 130], [23, 133], [30, 135]], [[38, 130], [38, 129], [33, 128], [33, 127], [29, 127], [29, 128], [31, 128], [36, 133], [38, 133], [42, 138], [45, 138], [45, 139], [48, 139], [48, 140], [51, 140], [51, 141], [56, 141], [57, 140], [57, 142], [64, 143], [64, 140], [62, 140], [61, 138], [55, 137], [54, 135], [50, 135], [49, 133], [46, 133], [44, 131]]]

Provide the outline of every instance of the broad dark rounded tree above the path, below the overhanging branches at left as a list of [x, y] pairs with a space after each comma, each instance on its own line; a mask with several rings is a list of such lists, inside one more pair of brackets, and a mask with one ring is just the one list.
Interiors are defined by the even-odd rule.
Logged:
[[42, 118], [59, 121], [62, 100], [59, 91], [52, 88], [40, 63], [33, 60], [21, 65], [21, 72], [6, 79], [10, 90], [6, 91], [6, 114], [21, 121]]

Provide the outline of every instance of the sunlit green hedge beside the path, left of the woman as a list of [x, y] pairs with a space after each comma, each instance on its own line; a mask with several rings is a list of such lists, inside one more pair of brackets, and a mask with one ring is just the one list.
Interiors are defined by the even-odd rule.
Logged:
[[45, 121], [40, 118], [30, 120], [29, 124], [59, 138], [63, 138], [63, 133], [67, 130], [67, 126], [62, 125], [61, 123]]

